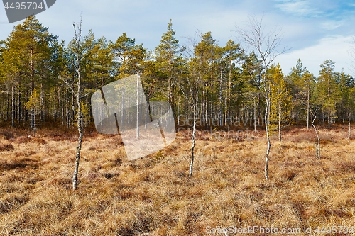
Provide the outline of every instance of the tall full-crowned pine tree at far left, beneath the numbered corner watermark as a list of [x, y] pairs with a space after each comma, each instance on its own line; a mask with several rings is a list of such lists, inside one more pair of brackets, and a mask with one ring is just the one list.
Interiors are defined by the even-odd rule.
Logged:
[[[12, 124], [17, 116], [18, 124], [24, 117], [23, 105], [35, 88], [40, 89], [40, 103], [42, 120], [45, 110], [45, 84], [49, 82], [52, 71], [50, 69], [51, 50], [57, 40], [42, 26], [35, 16], [26, 18], [22, 24], [15, 26], [6, 40], [4, 50], [5, 77], [11, 79], [12, 96]], [[28, 88], [29, 93], [28, 93]], [[17, 111], [14, 111], [14, 110]], [[30, 111], [31, 118], [35, 116]]]

